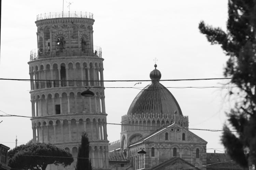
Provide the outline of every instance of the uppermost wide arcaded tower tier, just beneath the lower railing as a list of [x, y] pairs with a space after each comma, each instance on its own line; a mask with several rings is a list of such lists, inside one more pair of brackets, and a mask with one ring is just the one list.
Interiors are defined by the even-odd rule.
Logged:
[[46, 64], [45, 66], [35, 65], [29, 67], [29, 75], [30, 80], [32, 80], [30, 81], [31, 90], [66, 86], [104, 86], [101, 63], [99, 65], [98, 63], [93, 64], [92, 62], [89, 65], [86, 62], [77, 62], [75, 65], [72, 62], [68, 64], [54, 63], [52, 67], [50, 64]]

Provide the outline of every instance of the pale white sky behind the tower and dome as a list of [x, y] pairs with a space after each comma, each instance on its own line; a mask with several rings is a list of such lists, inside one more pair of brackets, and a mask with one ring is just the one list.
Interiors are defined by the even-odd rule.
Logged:
[[[68, 3], [64, 1], [64, 11]], [[37, 14], [61, 12], [62, 0], [2, 1], [0, 78], [29, 79], [30, 50], [37, 48]], [[228, 59], [220, 46], [200, 34], [198, 23], [226, 30], [227, 0], [73, 0], [70, 11], [94, 14], [94, 45], [102, 47], [104, 80], [149, 80], [157, 57], [163, 79], [221, 78]], [[136, 82], [105, 82], [105, 87], [133, 87]], [[142, 82], [135, 87], [145, 87]], [[161, 82], [166, 87], [222, 86], [224, 81]], [[30, 83], [0, 80], [0, 110], [31, 116]], [[189, 128], [222, 129], [232, 102], [227, 89], [170, 88]], [[138, 89], [105, 89], [109, 123], [120, 123]], [[3, 113], [0, 112], [0, 115]], [[32, 138], [29, 118], [0, 117], [0, 143], [15, 147]], [[120, 139], [120, 125], [108, 125], [108, 140]], [[192, 131], [223, 151], [221, 132]], [[5, 143], [10, 142], [10, 143]], [[207, 150], [213, 152], [213, 150]], [[217, 151], [218, 152], [218, 151]]]

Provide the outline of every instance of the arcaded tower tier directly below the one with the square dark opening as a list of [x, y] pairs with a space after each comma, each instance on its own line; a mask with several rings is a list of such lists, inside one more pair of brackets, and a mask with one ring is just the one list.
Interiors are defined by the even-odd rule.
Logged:
[[33, 121], [33, 142], [58, 143], [80, 141], [83, 132], [90, 141], [107, 140], [105, 119], [96, 118]]

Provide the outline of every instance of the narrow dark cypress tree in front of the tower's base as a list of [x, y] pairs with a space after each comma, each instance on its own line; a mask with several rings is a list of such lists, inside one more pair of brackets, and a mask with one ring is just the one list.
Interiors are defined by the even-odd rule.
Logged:
[[89, 138], [84, 132], [82, 134], [81, 145], [78, 148], [76, 170], [92, 170], [89, 160]]

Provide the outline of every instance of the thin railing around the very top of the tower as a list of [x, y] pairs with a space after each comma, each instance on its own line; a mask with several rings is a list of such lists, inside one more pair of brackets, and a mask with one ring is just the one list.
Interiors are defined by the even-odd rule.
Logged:
[[93, 19], [93, 13], [88, 12], [55, 12], [55, 13], [44, 13], [37, 15], [37, 21], [42, 19], [51, 19], [51, 18], [89, 18]]

